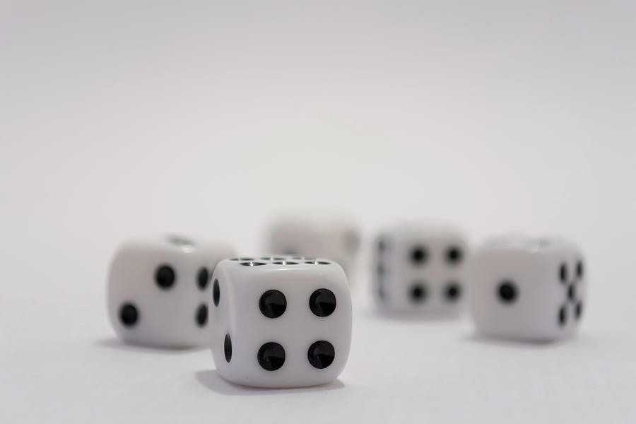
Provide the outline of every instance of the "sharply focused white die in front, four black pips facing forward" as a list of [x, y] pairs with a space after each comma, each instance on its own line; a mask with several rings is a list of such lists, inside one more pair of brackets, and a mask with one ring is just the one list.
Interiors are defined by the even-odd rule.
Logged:
[[212, 276], [214, 363], [230, 382], [301, 387], [335, 379], [351, 346], [351, 295], [328, 259], [220, 261]]

